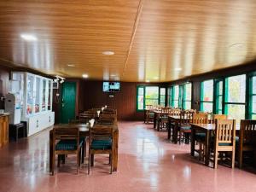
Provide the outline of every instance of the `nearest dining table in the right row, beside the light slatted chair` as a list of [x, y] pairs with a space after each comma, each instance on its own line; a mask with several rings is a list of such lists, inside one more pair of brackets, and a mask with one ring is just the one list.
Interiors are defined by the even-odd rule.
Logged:
[[[211, 135], [212, 131], [215, 130], [215, 124], [191, 124], [191, 144], [190, 144], [190, 149], [191, 149], [191, 155], [195, 155], [195, 133], [200, 132], [200, 133], [205, 133], [206, 134], [206, 142], [205, 142], [205, 148], [206, 148], [206, 160], [205, 160], [205, 165], [209, 166], [209, 157], [210, 157], [210, 142], [211, 142]], [[240, 125], [236, 125], [236, 132], [240, 131]]]

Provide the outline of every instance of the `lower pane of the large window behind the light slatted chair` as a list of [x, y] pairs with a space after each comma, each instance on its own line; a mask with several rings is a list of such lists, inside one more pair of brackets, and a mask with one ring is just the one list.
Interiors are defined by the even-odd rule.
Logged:
[[226, 109], [229, 119], [236, 119], [236, 123], [239, 123], [241, 119], [245, 119], [245, 105], [226, 104]]

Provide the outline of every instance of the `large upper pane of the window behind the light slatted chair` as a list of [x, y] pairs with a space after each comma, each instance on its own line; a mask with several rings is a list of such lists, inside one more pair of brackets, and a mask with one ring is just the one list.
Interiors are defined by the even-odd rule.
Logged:
[[238, 75], [226, 79], [227, 101], [245, 102], [246, 75]]

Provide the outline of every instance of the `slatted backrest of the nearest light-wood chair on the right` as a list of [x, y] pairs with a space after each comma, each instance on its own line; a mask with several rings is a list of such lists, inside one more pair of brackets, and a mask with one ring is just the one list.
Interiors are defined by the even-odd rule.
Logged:
[[217, 119], [215, 128], [215, 142], [236, 144], [236, 120]]

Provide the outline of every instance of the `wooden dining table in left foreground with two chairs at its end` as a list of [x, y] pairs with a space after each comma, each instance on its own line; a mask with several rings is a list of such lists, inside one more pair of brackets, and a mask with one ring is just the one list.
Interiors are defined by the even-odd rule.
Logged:
[[[119, 128], [117, 124], [109, 125], [109, 124], [96, 124], [97, 126], [111, 126], [113, 127], [113, 172], [117, 172], [118, 168], [118, 147], [119, 147]], [[89, 125], [87, 124], [60, 124], [54, 125], [53, 128], [79, 128], [79, 136], [80, 137], [88, 137], [89, 136]], [[53, 160], [53, 129], [49, 131], [49, 172], [52, 171], [52, 160]]]

